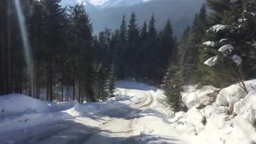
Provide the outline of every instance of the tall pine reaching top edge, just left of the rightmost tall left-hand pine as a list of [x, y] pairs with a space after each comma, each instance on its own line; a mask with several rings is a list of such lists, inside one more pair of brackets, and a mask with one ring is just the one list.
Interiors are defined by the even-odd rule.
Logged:
[[53, 101], [53, 54], [58, 53], [61, 48], [61, 25], [63, 16], [63, 8], [60, 5], [61, 0], [43, 0], [43, 32], [44, 43], [46, 46], [45, 54], [47, 55], [47, 98]]

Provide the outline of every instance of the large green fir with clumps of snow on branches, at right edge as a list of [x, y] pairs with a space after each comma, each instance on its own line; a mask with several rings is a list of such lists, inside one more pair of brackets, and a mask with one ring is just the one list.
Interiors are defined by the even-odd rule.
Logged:
[[[220, 3], [222, 3], [222, 10], [219, 9]], [[214, 24], [223, 24], [222, 26], [226, 28], [219, 31], [210, 28], [205, 41], [210, 40], [215, 45], [213, 47], [205, 45], [201, 47], [200, 59], [202, 65], [207, 59], [218, 55], [218, 62], [212, 69], [207, 66], [201, 68], [203, 76], [210, 75], [210, 77], [208, 76], [208, 82], [211, 81], [218, 87], [225, 87], [231, 83], [237, 83], [252, 77], [251, 74], [255, 72], [255, 69], [251, 69], [251, 67], [255, 67], [255, 64], [251, 61], [255, 59], [255, 50], [251, 44], [254, 40], [255, 27], [253, 25], [256, 24], [256, 21], [250, 13], [255, 12], [255, 9], [252, 8], [255, 4], [256, 2], [253, 0], [232, 1], [229, 4], [225, 3], [224, 0], [216, 0], [216, 3], [213, 3], [213, 0], [208, 0], [208, 5], [213, 11], [210, 17], [216, 17], [216, 13], [225, 11], [219, 17], [221, 20]], [[218, 50], [224, 45], [231, 46], [232, 51], [220, 53]], [[234, 63], [235, 59], [242, 61], [241, 63]], [[219, 85], [220, 81], [225, 83]]]

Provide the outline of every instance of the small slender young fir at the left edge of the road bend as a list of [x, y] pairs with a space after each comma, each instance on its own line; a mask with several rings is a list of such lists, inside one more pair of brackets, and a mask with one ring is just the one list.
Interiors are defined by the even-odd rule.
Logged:
[[108, 93], [110, 97], [113, 97], [115, 92], [115, 82], [117, 80], [116, 71], [117, 71], [117, 68], [115, 67], [114, 64], [112, 64], [110, 67], [109, 76], [108, 76], [108, 82], [109, 82]]

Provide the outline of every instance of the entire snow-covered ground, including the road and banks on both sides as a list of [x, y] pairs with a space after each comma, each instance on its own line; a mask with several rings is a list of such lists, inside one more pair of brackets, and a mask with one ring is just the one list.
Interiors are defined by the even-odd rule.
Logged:
[[189, 111], [175, 115], [161, 89], [133, 81], [118, 82], [116, 97], [100, 103], [0, 96], [0, 144], [255, 144], [256, 80], [245, 85], [248, 94], [239, 85], [188, 85]]

